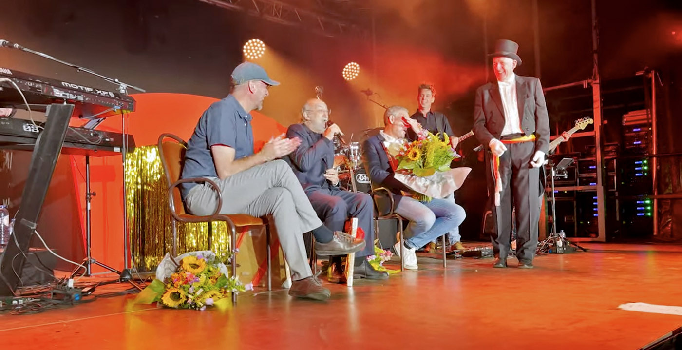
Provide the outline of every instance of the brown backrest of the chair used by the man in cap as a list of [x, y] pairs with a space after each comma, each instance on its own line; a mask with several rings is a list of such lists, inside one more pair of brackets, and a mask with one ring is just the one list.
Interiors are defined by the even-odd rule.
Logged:
[[[164, 141], [166, 138], [169, 140]], [[161, 164], [164, 166], [164, 173], [166, 173], [166, 182], [168, 187], [170, 187], [175, 184], [175, 181], [180, 179], [187, 143], [174, 134], [161, 134], [159, 136], [158, 147]], [[175, 209], [175, 213], [178, 215], [187, 214], [182, 203], [179, 186], [173, 189], [170, 209]]]

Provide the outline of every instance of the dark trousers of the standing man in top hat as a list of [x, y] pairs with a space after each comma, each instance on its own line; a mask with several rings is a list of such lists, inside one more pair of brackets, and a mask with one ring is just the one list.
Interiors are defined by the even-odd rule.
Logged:
[[[495, 257], [506, 259], [511, 246], [511, 211], [516, 208], [516, 257], [532, 261], [537, 249], [539, 222], [539, 168], [531, 167], [535, 154], [535, 142], [512, 143], [500, 157], [499, 172], [502, 180], [500, 206], [492, 203], [492, 215], [497, 223], [492, 234], [492, 248]], [[495, 193], [492, 173], [492, 154], [486, 153], [488, 162], [488, 188], [490, 196]], [[512, 207], [513, 205], [513, 207]]]

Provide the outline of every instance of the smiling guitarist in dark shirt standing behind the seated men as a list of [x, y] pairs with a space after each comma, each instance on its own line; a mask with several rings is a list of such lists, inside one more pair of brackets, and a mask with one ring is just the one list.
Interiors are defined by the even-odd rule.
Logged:
[[[453, 149], [457, 148], [459, 144], [458, 138], [452, 132], [450, 127], [450, 122], [443, 113], [432, 111], [431, 106], [436, 100], [436, 89], [433, 85], [421, 84], [417, 88], [417, 104], [419, 107], [415, 114], [411, 115], [410, 118], [415, 119], [417, 123], [421, 125], [422, 128], [428, 130], [432, 134], [438, 134], [440, 132], [445, 132], [450, 138], [450, 145]], [[417, 134], [412, 130], [407, 130], [407, 139], [409, 141], [415, 141], [417, 139]], [[445, 199], [455, 203], [454, 192], [445, 197]], [[459, 230], [448, 233], [448, 244], [449, 247], [443, 247], [447, 250], [464, 250], [464, 246], [460, 240], [462, 235], [460, 235]]]

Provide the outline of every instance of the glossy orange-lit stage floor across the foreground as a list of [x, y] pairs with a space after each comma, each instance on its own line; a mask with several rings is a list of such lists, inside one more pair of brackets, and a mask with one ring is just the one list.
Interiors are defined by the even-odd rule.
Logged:
[[[3, 349], [638, 349], [682, 316], [619, 310], [682, 306], [682, 246], [585, 244], [537, 257], [533, 270], [492, 259], [419, 259], [388, 281], [329, 285], [328, 302], [285, 290], [236, 308], [131, 306], [134, 296], [38, 315], [0, 315]], [[515, 259], [509, 259], [515, 265]], [[258, 292], [258, 291], [257, 291]]]

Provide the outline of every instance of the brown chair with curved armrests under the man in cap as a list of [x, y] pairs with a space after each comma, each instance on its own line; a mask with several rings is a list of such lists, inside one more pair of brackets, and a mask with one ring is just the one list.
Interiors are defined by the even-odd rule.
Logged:
[[[166, 138], [168, 141], [166, 141]], [[172, 141], [171, 141], [172, 140]], [[222, 207], [222, 194], [216, 182], [206, 177], [192, 177], [191, 179], [180, 179], [187, 143], [182, 138], [174, 134], [161, 134], [158, 139], [158, 149], [161, 163], [166, 173], [168, 183], [168, 205], [170, 214], [173, 216], [173, 256], [177, 256], [177, 222], [207, 222], [208, 223], [208, 242], [207, 249], [211, 249], [213, 230], [211, 223], [222, 221], [227, 225], [230, 233], [230, 245], [232, 249], [231, 274], [237, 276], [237, 227], [239, 228], [262, 228], [265, 227], [266, 254], [267, 254], [267, 290], [272, 290], [271, 278], [271, 256], [270, 256], [270, 227], [266, 218], [255, 218], [246, 214], [218, 214]], [[218, 196], [218, 206], [215, 212], [209, 216], [196, 216], [188, 214], [180, 197], [179, 185], [186, 182], [197, 182], [209, 184]], [[237, 293], [232, 293], [232, 303], [237, 304]]]

